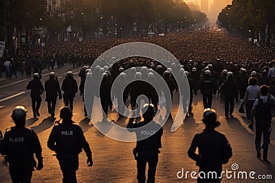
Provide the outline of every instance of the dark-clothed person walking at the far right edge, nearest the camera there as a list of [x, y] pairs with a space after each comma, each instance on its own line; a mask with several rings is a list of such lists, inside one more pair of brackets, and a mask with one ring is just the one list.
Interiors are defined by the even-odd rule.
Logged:
[[275, 98], [269, 95], [269, 87], [261, 86], [261, 97], [256, 99], [251, 112], [250, 128], [253, 126], [253, 119], [256, 119], [255, 146], [257, 158], [261, 158], [261, 138], [263, 134], [263, 160], [267, 161], [268, 143], [272, 123], [272, 110], [275, 109]]

